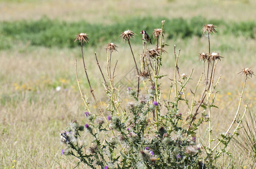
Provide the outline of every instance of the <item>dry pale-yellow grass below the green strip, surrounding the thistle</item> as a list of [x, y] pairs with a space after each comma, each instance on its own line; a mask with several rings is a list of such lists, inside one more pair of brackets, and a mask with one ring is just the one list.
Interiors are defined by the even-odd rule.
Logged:
[[[192, 68], [195, 69], [193, 81], [189, 86], [194, 86], [202, 72], [202, 64], [198, 62], [198, 51], [207, 48], [204, 44], [204, 37], [191, 38], [187, 46], [182, 41], [168, 42], [178, 44], [181, 48], [180, 72], [189, 74]], [[255, 41], [248, 41], [240, 38], [241, 47], [252, 48]], [[220, 41], [212, 39], [212, 45]], [[221, 41], [225, 41], [222, 39]], [[243, 46], [247, 41], [247, 45]], [[193, 44], [194, 43], [194, 44]], [[224, 43], [224, 42], [223, 42]], [[117, 77], [122, 79], [127, 70], [133, 68], [129, 48], [120, 40], [118, 45], [119, 53], [114, 53], [112, 60], [118, 60]], [[197, 47], [199, 46], [199, 48]], [[23, 48], [20, 46], [20, 48]], [[184, 50], [183, 50], [184, 49]], [[163, 79], [165, 87], [168, 87], [173, 77], [173, 47], [167, 47], [167, 54], [163, 55], [166, 60], [163, 65], [162, 74], [168, 76]], [[106, 53], [104, 47], [95, 49], [98, 51], [100, 64], [105, 70]], [[79, 78], [82, 81], [82, 89], [89, 95], [86, 78], [83, 72], [80, 49], [58, 49], [32, 47], [20, 51], [1, 51], [1, 100], [3, 96], [10, 97], [5, 104], [1, 105], [1, 161], [3, 166], [16, 168], [70, 168], [74, 167], [74, 159], [69, 159], [60, 155], [63, 145], [59, 144], [58, 134], [72, 119], [83, 121], [84, 108], [80, 100], [76, 87], [74, 61], [78, 58]], [[134, 53], [137, 58], [141, 52], [141, 46], [134, 46]], [[220, 51], [221, 52], [221, 51]], [[219, 85], [220, 94], [217, 96], [216, 105], [220, 109], [215, 109], [212, 113], [213, 135], [225, 131], [232, 121], [238, 104], [241, 83], [244, 79], [237, 73], [244, 66], [252, 66], [255, 69], [254, 51], [246, 50], [234, 52], [229, 55], [229, 51], [221, 54], [224, 56], [219, 66], [217, 74], [222, 74]], [[120, 55], [120, 53], [125, 55]], [[242, 56], [243, 55], [243, 56]], [[244, 55], [246, 57], [244, 57]], [[89, 78], [95, 89], [97, 98], [104, 97], [102, 92], [102, 79], [100, 72], [96, 68], [93, 49], [85, 49], [85, 56], [88, 65]], [[243, 59], [241, 59], [241, 56]], [[128, 63], [128, 64], [127, 64]], [[25, 85], [24, 85], [25, 84]], [[27, 85], [27, 87], [26, 87]], [[255, 81], [249, 79], [246, 86], [243, 104], [255, 105]], [[17, 88], [19, 86], [19, 88]], [[31, 91], [28, 90], [30, 86]], [[57, 92], [56, 86], [61, 86], [62, 90]], [[203, 86], [203, 84], [202, 84]], [[64, 89], [66, 88], [66, 90]], [[193, 88], [191, 88], [193, 90]], [[167, 95], [165, 89], [163, 99]], [[187, 97], [191, 96], [190, 88], [187, 88]], [[230, 94], [229, 94], [230, 93]], [[245, 99], [245, 100], [246, 100]], [[221, 117], [221, 118], [220, 118]], [[204, 134], [204, 130], [200, 134]], [[15, 163], [12, 162], [15, 160]], [[71, 160], [71, 162], [70, 162]], [[46, 162], [46, 163], [45, 163]]]

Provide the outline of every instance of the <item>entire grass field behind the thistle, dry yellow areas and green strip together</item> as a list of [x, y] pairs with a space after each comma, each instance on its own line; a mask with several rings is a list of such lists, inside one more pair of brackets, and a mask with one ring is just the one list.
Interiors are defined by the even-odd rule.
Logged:
[[[207, 37], [200, 35], [200, 29], [208, 23], [199, 22], [200, 20], [196, 20], [198, 24], [193, 23], [193, 18], [219, 23], [216, 28], [218, 33], [211, 37], [211, 45], [212, 51], [220, 52], [224, 58], [221, 59], [216, 70], [216, 76], [221, 75], [218, 88], [220, 93], [216, 99], [216, 105], [220, 109], [215, 109], [212, 113], [212, 125], [215, 128], [213, 135], [224, 132], [236, 112], [244, 81], [244, 77], [237, 73], [242, 68], [256, 71], [255, 8], [256, 2], [249, 0], [210, 2], [163, 0], [157, 3], [147, 2], [147, 6], [144, 1], [118, 0], [108, 3], [105, 1], [1, 1], [0, 168], [75, 166], [76, 159], [61, 155], [63, 145], [59, 144], [59, 131], [63, 130], [72, 119], [84, 123], [85, 108], [76, 84], [75, 59], [78, 59], [78, 75], [82, 90], [89, 94], [89, 88], [83, 73], [80, 48], [73, 45], [74, 39], [72, 39], [80, 32], [88, 33], [92, 41], [92, 45], [86, 46], [84, 50], [89, 78], [97, 98], [104, 99], [102, 80], [100, 72], [96, 69], [94, 52], [97, 52], [100, 64], [105, 70], [104, 47], [114, 39], [119, 51], [113, 54], [113, 61], [118, 60], [116, 79], [117, 81], [122, 79], [134, 66], [128, 46], [118, 37], [123, 30], [132, 29], [138, 34], [131, 43], [134, 54], [139, 60], [139, 54], [142, 52], [139, 31], [145, 27], [153, 30], [155, 28], [153, 26], [157, 23], [160, 26], [163, 19], [167, 20], [167, 25], [168, 21], [172, 22], [173, 28], [172, 25], [167, 26], [169, 32], [166, 32], [165, 42], [169, 46], [165, 48], [168, 53], [163, 56], [164, 65], [161, 71], [162, 74], [167, 74], [163, 84], [168, 87], [170, 85], [168, 78], [173, 78], [173, 45], [176, 45], [177, 49], [181, 49], [180, 72], [189, 74], [194, 68], [193, 81], [190, 84], [194, 87], [203, 69], [202, 63], [198, 62], [198, 55], [200, 52], [206, 52], [208, 47]], [[145, 21], [140, 20], [140, 17], [145, 18]], [[153, 26], [150, 25], [150, 19], [153, 20]], [[175, 24], [176, 21], [180, 21], [179, 19], [184, 22], [180, 25]], [[126, 20], [129, 23], [126, 23]], [[26, 31], [28, 28], [26, 26], [29, 26], [26, 23], [32, 25], [29, 28], [37, 29]], [[84, 27], [87, 26], [87, 29], [83, 29], [79, 23]], [[184, 23], [187, 23], [187, 27], [197, 26], [189, 28], [197, 29], [199, 32], [182, 27]], [[39, 29], [44, 24], [47, 24], [44, 28], [45, 32]], [[142, 28], [140, 24], [143, 25]], [[181, 30], [181, 33], [175, 34], [178, 30]], [[99, 34], [104, 35], [106, 32], [109, 33], [106, 34], [106, 38], [100, 39]], [[187, 32], [190, 34], [182, 36]], [[52, 35], [56, 35], [55, 39], [51, 37]], [[67, 38], [68, 42], [65, 42], [65, 38], [59, 41], [62, 37]], [[58, 86], [61, 87], [60, 91], [56, 90]], [[242, 101], [242, 108], [248, 104], [254, 114], [255, 86], [256, 81], [253, 77], [246, 84]], [[190, 89], [187, 88], [187, 91]], [[167, 92], [168, 88], [163, 93], [163, 99], [167, 97]], [[187, 92], [188, 97], [189, 95], [191, 96]], [[89, 100], [93, 102], [91, 98]], [[202, 134], [204, 132], [204, 130], [200, 131]], [[231, 144], [230, 149], [234, 152], [232, 162], [234, 168], [253, 167], [253, 157], [246, 156], [240, 149], [237, 150], [235, 144]], [[79, 168], [83, 167], [79, 166]]]

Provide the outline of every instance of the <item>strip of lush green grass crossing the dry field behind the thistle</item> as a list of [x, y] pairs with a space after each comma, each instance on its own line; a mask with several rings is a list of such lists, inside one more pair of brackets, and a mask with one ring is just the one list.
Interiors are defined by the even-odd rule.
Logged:
[[[202, 36], [202, 26], [204, 24], [217, 25], [219, 35], [235, 35], [246, 38], [255, 38], [255, 21], [242, 21], [239, 23], [225, 22], [224, 20], [206, 20], [202, 17], [193, 17], [191, 19], [165, 19], [165, 38], [190, 38], [193, 36]], [[44, 47], [75, 47], [74, 37], [78, 33], [89, 34], [89, 46], [100, 46], [108, 42], [117, 42], [120, 40], [118, 35], [121, 32], [130, 29], [134, 33], [144, 29], [148, 33], [158, 28], [161, 18], [152, 17], [134, 17], [119, 23], [103, 25], [90, 24], [86, 21], [67, 22], [61, 20], [50, 20], [48, 17], [42, 17], [40, 20], [20, 20], [15, 22], [3, 21], [0, 23], [0, 39], [2, 42], [0, 49], [10, 48], [15, 43], [29, 43], [33, 46]], [[142, 43], [140, 38], [134, 40], [136, 44]], [[229, 46], [222, 46], [228, 48]]]

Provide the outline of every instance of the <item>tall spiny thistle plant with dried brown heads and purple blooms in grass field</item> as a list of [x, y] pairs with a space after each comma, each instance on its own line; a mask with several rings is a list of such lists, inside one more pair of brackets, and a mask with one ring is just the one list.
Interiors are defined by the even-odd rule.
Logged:
[[[168, 99], [163, 100], [161, 94], [165, 89], [159, 83], [159, 79], [165, 77], [160, 69], [164, 63], [162, 55], [166, 53], [164, 47], [167, 44], [163, 39], [165, 21], [161, 23], [161, 28], [153, 32], [153, 37], [157, 38], [156, 48], [148, 49], [143, 43], [140, 71], [130, 42], [130, 39], [134, 38], [134, 33], [127, 30], [120, 35], [129, 43], [138, 75], [138, 87], [136, 89], [127, 87], [130, 101], [126, 105], [121, 104], [120, 87], [114, 87], [116, 66], [113, 72], [111, 69], [112, 52], [116, 51], [117, 47], [114, 43], [106, 46], [108, 82], [95, 54], [96, 63], [104, 80], [105, 94], [109, 98], [109, 104], [105, 108], [101, 108], [97, 103], [89, 84], [89, 90], [100, 114], [91, 112], [87, 96], [84, 97], [82, 94], [76, 73], [79, 91], [87, 111], [84, 113], [86, 124], [80, 125], [73, 121], [65, 131], [61, 132], [61, 143], [66, 145], [66, 148], [61, 151], [62, 154], [72, 155], [79, 159], [78, 164], [84, 163], [91, 168], [217, 168], [215, 162], [221, 154], [231, 155], [227, 147], [232, 138], [237, 135], [246, 113], [247, 106], [242, 114], [240, 114], [240, 108], [246, 81], [248, 77], [253, 76], [253, 71], [246, 68], [240, 72], [245, 75], [245, 81], [236, 115], [227, 131], [212, 139], [211, 113], [212, 108], [217, 108], [215, 97], [217, 84], [220, 81], [218, 78], [214, 83], [215, 70], [222, 58], [219, 52], [211, 52], [210, 47], [210, 34], [216, 33], [216, 26], [208, 24], [203, 28], [203, 33], [208, 34], [209, 50], [200, 53], [199, 60], [203, 61], [203, 64], [206, 63], [207, 68], [205, 69], [204, 66], [197, 86], [190, 87], [194, 88], [194, 90], [191, 89], [193, 97], [190, 99], [186, 97], [186, 88], [194, 69], [191, 69], [188, 75], [182, 73], [182, 68], [178, 66], [181, 50], [176, 53], [176, 46], [174, 46], [174, 78], [171, 79]], [[88, 42], [87, 38], [87, 34], [86, 36], [79, 34], [76, 37], [76, 40], [81, 43], [83, 58], [83, 42]], [[89, 83], [85, 64], [84, 70]], [[199, 84], [203, 77], [204, 88], [200, 91]], [[139, 91], [139, 81], [143, 81], [143, 92]], [[196, 101], [195, 98], [198, 96], [200, 100]], [[188, 116], [181, 112], [181, 107], [187, 109]], [[203, 123], [208, 123], [208, 129], [203, 128], [208, 137], [198, 135], [198, 129]], [[233, 131], [232, 128], [234, 128]], [[84, 135], [91, 137], [92, 142], [84, 144], [82, 140]], [[214, 147], [212, 142], [215, 143]]]

